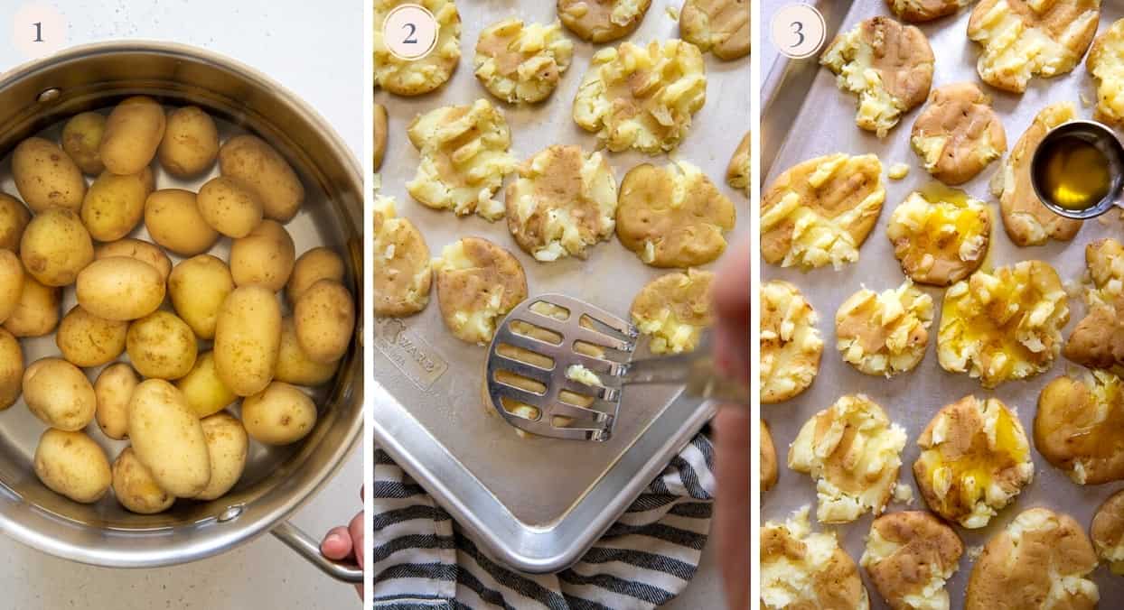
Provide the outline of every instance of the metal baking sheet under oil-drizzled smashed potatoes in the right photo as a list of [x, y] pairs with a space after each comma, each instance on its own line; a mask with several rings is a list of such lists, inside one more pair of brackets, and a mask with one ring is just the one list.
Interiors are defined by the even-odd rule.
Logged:
[[[772, 11], [780, 3], [778, 1], [767, 2], [763, 22], [768, 22]], [[881, 0], [819, 2], [818, 6], [825, 12], [828, 28], [833, 27], [833, 22], [837, 22], [841, 13], [845, 13], [843, 30], [850, 29], [862, 19], [876, 15], [888, 15], [886, 2]], [[1094, 85], [1085, 71], [1084, 62], [1067, 75], [1050, 80], [1032, 80], [1031, 87], [1023, 95], [1004, 93], [982, 85], [976, 73], [976, 57], [979, 47], [968, 40], [964, 34], [969, 15], [970, 10], [964, 10], [955, 17], [948, 17], [921, 26], [936, 56], [934, 88], [960, 81], [980, 83], [981, 89], [992, 97], [995, 109], [1003, 119], [1007, 131], [1008, 149], [1014, 147], [1034, 115], [1049, 103], [1072, 101], [1077, 106], [1079, 117], [1091, 117], [1093, 108], [1086, 107], [1080, 101], [1081, 94], [1086, 99], [1096, 100]], [[1121, 17], [1124, 17], [1124, 2], [1103, 2], [1100, 30], [1105, 30]], [[835, 31], [830, 29], [827, 39], [830, 40], [834, 34]], [[819, 315], [818, 327], [824, 338], [824, 355], [815, 383], [794, 400], [780, 404], [762, 406], [762, 416], [770, 426], [780, 463], [780, 479], [777, 486], [762, 494], [762, 521], [782, 521], [804, 504], [810, 503], [815, 507], [816, 492], [813, 480], [807, 475], [788, 470], [783, 464], [788, 446], [796, 438], [800, 426], [819, 410], [830, 407], [839, 397], [863, 392], [878, 402], [891, 420], [905, 427], [908, 441], [901, 454], [903, 466], [899, 481], [908, 483], [916, 492], [912, 466], [919, 453], [917, 437], [941, 407], [968, 394], [994, 395], [1008, 407], [1017, 409], [1018, 417], [1033, 445], [1033, 419], [1039, 392], [1046, 383], [1064, 374], [1067, 367], [1071, 366], [1068, 361], [1059, 356], [1053, 368], [1049, 372], [1026, 382], [1005, 383], [995, 391], [984, 390], [977, 380], [970, 379], [967, 374], [945, 372], [937, 364], [935, 340], [936, 329], [940, 326], [940, 303], [943, 290], [930, 286], [919, 288], [933, 297], [936, 319], [931, 328], [931, 342], [925, 358], [916, 370], [891, 380], [885, 380], [863, 375], [843, 362], [839, 350], [835, 349], [835, 311], [843, 300], [861, 286], [881, 291], [898, 286], [904, 281], [905, 277], [886, 237], [886, 224], [895, 207], [904, 201], [912, 191], [919, 189], [932, 179], [921, 167], [918, 157], [909, 147], [909, 129], [921, 108], [905, 115], [899, 125], [890, 131], [890, 135], [883, 142], [879, 142], [872, 134], [855, 127], [856, 98], [853, 94], [839, 91], [835, 87], [835, 76], [828, 70], [817, 70], [814, 79], [809, 81], [810, 89], [806, 90], [800, 85], [801, 78], [807, 75], [808, 64], [814, 65], [814, 62], [815, 60], [791, 62], [791, 64], [797, 65], [786, 66], [786, 62], [781, 60], [772, 69], [769, 84], [773, 85], [773, 89], [770, 91], [770, 88], [767, 88], [765, 97], [762, 98], [762, 104], [765, 109], [762, 124], [767, 124], [762, 131], [767, 138], [776, 135], [787, 137], [774, 142], [762, 142], [764, 183], [769, 184], [782, 171], [800, 161], [835, 152], [874, 153], [881, 158], [883, 171], [894, 163], [905, 162], [910, 165], [910, 172], [905, 180], [885, 181], [886, 204], [878, 225], [860, 251], [858, 263], [841, 271], [833, 271], [828, 266], [808, 273], [762, 264], [764, 280], [787, 280], [800, 288]], [[789, 69], [788, 78], [781, 78], [786, 67]], [[798, 100], [794, 101], [794, 98], [798, 98]], [[777, 101], [770, 103], [769, 100]], [[796, 113], [795, 121], [788, 125], [779, 121], [779, 118], [783, 120], [783, 112], [774, 113], [770, 110], [771, 107], [791, 108], [794, 103], [799, 104], [800, 102], [803, 102], [803, 107], [798, 106], [799, 112]], [[809, 131], [815, 133], [816, 137], [807, 137]], [[1006, 161], [1006, 155], [1000, 161]], [[1086, 221], [1072, 242], [1053, 242], [1045, 246], [1027, 248], [1015, 246], [1003, 229], [998, 202], [988, 190], [988, 180], [1001, 166], [1000, 161], [990, 164], [975, 180], [960, 186], [977, 199], [991, 203], [994, 229], [991, 251], [987, 260], [988, 265], [1000, 266], [1023, 260], [1041, 258], [1058, 270], [1063, 282], [1077, 282], [1085, 271], [1085, 245], [1099, 237], [1114, 236], [1120, 239], [1124, 235], [1124, 230], [1122, 230], [1124, 224], [1121, 222], [1118, 212], [1113, 211], [1103, 217], [1104, 222]], [[770, 162], [771, 164], [767, 166], [765, 164]], [[1085, 304], [1080, 299], [1071, 298], [1069, 304], [1071, 321], [1064, 330], [1066, 337], [1086, 312]], [[1124, 486], [1120, 482], [1104, 485], [1077, 485], [1061, 471], [1051, 466], [1036, 449], [1032, 450], [1032, 454], [1034, 457], [1034, 481], [1023, 490], [1010, 506], [999, 511], [999, 515], [991, 519], [988, 527], [967, 530], [953, 526], [963, 539], [966, 548], [984, 545], [992, 535], [1006, 527], [1015, 516], [1032, 507], [1049, 507], [1067, 512], [1088, 529], [1093, 515], [1100, 502]], [[912, 504], [904, 506], [891, 502], [887, 510], [924, 509], [924, 500], [921, 499], [919, 493], [915, 493], [915, 495], [917, 499]], [[872, 517], [868, 515], [853, 523], [835, 528], [844, 548], [856, 563], [862, 556], [871, 520]], [[819, 528], [818, 525], [814, 527]], [[966, 553], [961, 559], [960, 570], [948, 584], [952, 608], [963, 607], [963, 595], [971, 567], [972, 559]], [[870, 592], [871, 607], [887, 608], [867, 579], [865, 572], [862, 572]], [[1103, 608], [1115, 608], [1120, 600], [1124, 600], [1124, 579], [1113, 576], [1104, 565], [1097, 568], [1093, 577], [1100, 590], [1100, 606]]]

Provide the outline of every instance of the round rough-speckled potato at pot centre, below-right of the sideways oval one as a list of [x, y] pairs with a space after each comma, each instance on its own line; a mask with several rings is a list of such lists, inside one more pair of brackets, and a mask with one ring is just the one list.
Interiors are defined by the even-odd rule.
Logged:
[[191, 372], [199, 347], [188, 322], [170, 311], [134, 320], [125, 339], [129, 362], [145, 377], [174, 380]]

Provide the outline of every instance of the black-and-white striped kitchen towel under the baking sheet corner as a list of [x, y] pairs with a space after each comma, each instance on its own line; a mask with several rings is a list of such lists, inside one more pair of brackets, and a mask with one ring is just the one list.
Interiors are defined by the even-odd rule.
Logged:
[[695, 437], [605, 536], [558, 574], [523, 574], [483, 555], [448, 513], [374, 450], [374, 607], [553, 610], [655, 608], [695, 575], [710, 530], [714, 452]]

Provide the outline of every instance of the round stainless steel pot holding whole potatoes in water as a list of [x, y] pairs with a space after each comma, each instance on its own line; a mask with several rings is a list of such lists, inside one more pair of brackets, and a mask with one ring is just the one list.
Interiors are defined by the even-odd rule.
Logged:
[[[148, 42], [75, 47], [0, 76], [0, 189], [15, 193], [8, 153], [22, 138], [69, 116], [103, 108], [130, 94], [170, 104], [193, 103], [223, 119], [223, 129], [248, 130], [271, 142], [300, 173], [308, 193], [287, 227], [297, 252], [334, 247], [348, 266], [352, 293], [362, 295], [363, 189], [359, 164], [312, 109], [263, 74], [203, 49]], [[162, 184], [167, 176], [161, 175]], [[202, 180], [179, 183], [198, 186]], [[136, 235], [144, 236], [143, 227]], [[226, 254], [226, 240], [216, 247]], [[175, 257], [173, 257], [175, 260]], [[73, 304], [73, 290], [64, 309]], [[362, 308], [356, 308], [362, 311]], [[166, 513], [133, 515], [112, 498], [82, 506], [36, 479], [31, 459], [44, 426], [22, 401], [0, 411], [0, 531], [76, 562], [153, 567], [201, 559], [271, 531], [332, 576], [361, 582], [354, 566], [324, 559], [316, 543], [285, 522], [336, 472], [363, 428], [360, 330], [336, 379], [317, 395], [320, 417], [292, 447], [253, 444], [246, 472], [226, 497], [180, 501]], [[56, 355], [53, 337], [24, 342], [30, 363]], [[91, 379], [98, 371], [89, 371]], [[91, 434], [110, 457], [125, 444]], [[344, 515], [341, 515], [344, 517]]]

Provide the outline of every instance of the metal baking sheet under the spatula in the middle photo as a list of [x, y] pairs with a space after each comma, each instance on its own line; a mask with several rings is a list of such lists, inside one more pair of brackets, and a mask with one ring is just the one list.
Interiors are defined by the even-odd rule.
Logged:
[[[626, 39], [646, 44], [678, 37], [679, 27], [669, 8], [680, 4], [681, 0], [652, 2], [641, 27]], [[375, 91], [375, 101], [384, 104], [389, 115], [381, 194], [395, 197], [399, 215], [418, 226], [432, 255], [439, 255], [457, 238], [484, 237], [519, 260], [531, 295], [563, 292], [627, 318], [641, 286], [671, 270], [644, 265], [616, 238], [591, 247], [586, 261], [571, 257], [538, 263], [515, 244], [506, 220], [492, 224], [475, 216], [457, 218], [450, 211], [426, 208], [406, 192], [405, 184], [418, 163], [406, 127], [419, 112], [442, 106], [489, 99], [502, 109], [511, 130], [511, 152], [520, 161], [552, 144], [596, 148], [595, 136], [574, 124], [571, 106], [590, 57], [607, 45], [571, 36], [573, 61], [553, 95], [541, 104], [509, 106], [484, 91], [472, 73], [478, 35], [513, 15], [526, 22], [551, 22], [556, 18], [554, 2], [459, 2], [459, 9], [463, 24], [461, 61], [448, 83], [413, 99]], [[722, 62], [709, 54], [705, 58], [707, 102], [672, 157], [700, 166], [734, 201], [737, 226], [727, 236], [733, 240], [749, 230], [747, 198], [726, 185], [725, 172], [749, 129], [750, 58]], [[669, 162], [664, 155], [605, 154], [618, 183], [635, 165]], [[556, 570], [574, 561], [710, 413], [710, 407], [698, 401], [674, 402], [677, 389], [637, 388], [625, 393], [613, 438], [606, 443], [520, 438], [483, 401], [487, 349], [447, 331], [436, 291], [424, 312], [402, 320], [377, 319], [374, 327], [377, 443], [437, 495], [493, 555], [519, 568]], [[645, 344], [636, 357], [646, 354]]]

